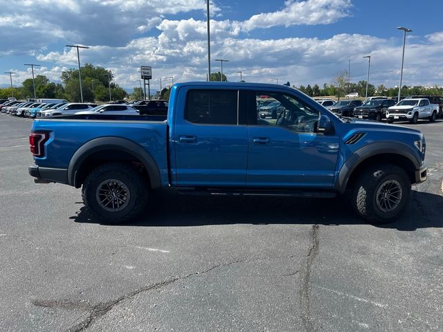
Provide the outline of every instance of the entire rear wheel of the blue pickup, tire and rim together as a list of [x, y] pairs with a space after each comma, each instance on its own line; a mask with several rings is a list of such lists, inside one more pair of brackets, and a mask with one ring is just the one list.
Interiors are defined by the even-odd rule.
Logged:
[[132, 165], [108, 163], [87, 176], [82, 187], [84, 205], [104, 223], [124, 223], [145, 209], [148, 187]]

